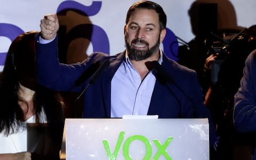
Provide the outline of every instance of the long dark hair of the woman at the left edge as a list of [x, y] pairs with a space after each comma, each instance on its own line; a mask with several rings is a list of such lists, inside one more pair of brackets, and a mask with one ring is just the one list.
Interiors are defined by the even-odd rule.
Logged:
[[[18, 105], [20, 84], [35, 91], [35, 113], [44, 110], [52, 134], [62, 132], [63, 101], [60, 94], [36, 84], [34, 38], [37, 31], [19, 35], [7, 52], [4, 69], [0, 73], [0, 132], [6, 136], [18, 132], [23, 126], [23, 111]], [[38, 117], [40, 118], [43, 117]]]

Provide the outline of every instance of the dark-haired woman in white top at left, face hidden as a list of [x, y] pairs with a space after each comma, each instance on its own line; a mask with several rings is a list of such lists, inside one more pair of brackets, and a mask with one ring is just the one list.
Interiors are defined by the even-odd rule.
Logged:
[[58, 93], [36, 83], [36, 34], [14, 39], [0, 74], [1, 160], [59, 159], [64, 104]]

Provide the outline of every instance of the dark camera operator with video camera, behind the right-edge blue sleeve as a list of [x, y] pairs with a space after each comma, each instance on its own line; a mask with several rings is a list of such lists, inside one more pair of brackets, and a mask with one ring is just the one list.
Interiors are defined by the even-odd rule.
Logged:
[[256, 49], [255, 28], [252, 25], [239, 34], [223, 35], [228, 44], [215, 43], [205, 61], [205, 70], [211, 81], [205, 105], [210, 109], [216, 126], [220, 159], [251, 159], [255, 145], [254, 135], [237, 131], [233, 123], [234, 95], [243, 77], [245, 60]]

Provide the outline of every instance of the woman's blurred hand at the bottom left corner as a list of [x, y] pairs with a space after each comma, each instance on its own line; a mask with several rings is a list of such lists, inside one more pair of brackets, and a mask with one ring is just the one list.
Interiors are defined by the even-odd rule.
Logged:
[[0, 160], [31, 160], [31, 153], [24, 151], [15, 154], [0, 154]]

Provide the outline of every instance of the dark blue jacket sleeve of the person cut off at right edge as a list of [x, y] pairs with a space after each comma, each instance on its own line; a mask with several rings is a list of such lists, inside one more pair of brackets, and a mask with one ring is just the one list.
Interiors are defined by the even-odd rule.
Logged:
[[256, 50], [245, 61], [244, 75], [235, 94], [234, 125], [239, 132], [256, 131]]

